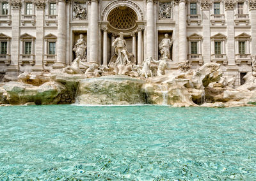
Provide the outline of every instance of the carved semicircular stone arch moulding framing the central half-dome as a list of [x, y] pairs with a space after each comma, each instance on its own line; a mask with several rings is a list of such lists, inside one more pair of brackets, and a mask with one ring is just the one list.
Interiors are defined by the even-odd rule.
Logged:
[[129, 0], [116, 0], [113, 1], [111, 3], [109, 3], [104, 10], [102, 11], [102, 15], [101, 15], [101, 19], [103, 21], [108, 21], [108, 15], [109, 13], [117, 8], [118, 6], [127, 6], [129, 8], [131, 8], [132, 10], [134, 10], [138, 16], [138, 20], [143, 20], [143, 12], [140, 8], [140, 6], [132, 1]]

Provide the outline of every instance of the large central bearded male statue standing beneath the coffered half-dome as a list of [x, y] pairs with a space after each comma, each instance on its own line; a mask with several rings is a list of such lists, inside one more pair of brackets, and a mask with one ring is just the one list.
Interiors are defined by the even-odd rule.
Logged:
[[112, 46], [115, 47], [115, 53], [117, 54], [115, 66], [120, 64], [125, 65], [130, 62], [128, 58], [129, 52], [127, 51], [126, 41], [122, 32], [120, 32], [120, 37], [113, 41]]

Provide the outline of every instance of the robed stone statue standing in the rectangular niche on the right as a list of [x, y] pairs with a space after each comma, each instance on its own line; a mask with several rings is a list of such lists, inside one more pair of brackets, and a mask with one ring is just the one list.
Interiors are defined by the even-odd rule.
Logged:
[[171, 59], [171, 46], [173, 45], [173, 40], [171, 41], [170, 38], [168, 38], [168, 34], [164, 34], [164, 39], [159, 43], [159, 50], [161, 57], [168, 57], [168, 59]]

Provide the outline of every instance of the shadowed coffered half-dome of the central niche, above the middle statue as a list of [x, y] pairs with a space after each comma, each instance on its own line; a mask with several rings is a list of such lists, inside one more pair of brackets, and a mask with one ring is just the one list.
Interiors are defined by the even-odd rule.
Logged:
[[108, 22], [116, 29], [131, 29], [136, 25], [136, 13], [127, 7], [115, 8], [109, 13]]

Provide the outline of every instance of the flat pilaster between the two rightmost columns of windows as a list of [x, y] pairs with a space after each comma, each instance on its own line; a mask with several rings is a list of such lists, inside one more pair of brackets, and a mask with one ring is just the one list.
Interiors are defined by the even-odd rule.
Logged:
[[234, 7], [235, 1], [225, 1], [227, 15], [227, 58], [228, 65], [235, 65], [235, 29], [234, 29]]

